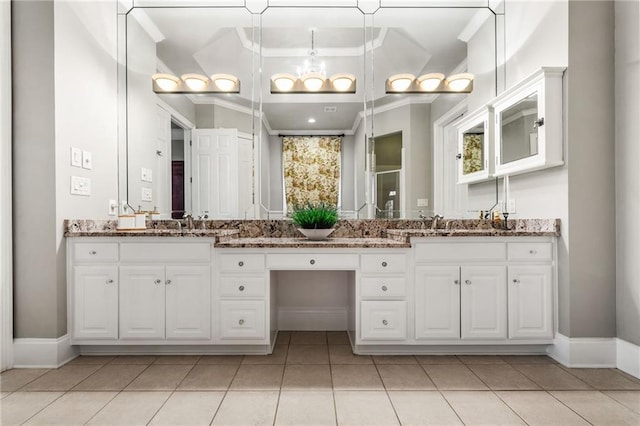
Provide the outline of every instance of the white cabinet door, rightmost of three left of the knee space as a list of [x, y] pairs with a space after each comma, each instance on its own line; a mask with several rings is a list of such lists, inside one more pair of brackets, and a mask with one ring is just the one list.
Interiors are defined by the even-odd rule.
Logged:
[[167, 266], [167, 339], [211, 337], [209, 266]]

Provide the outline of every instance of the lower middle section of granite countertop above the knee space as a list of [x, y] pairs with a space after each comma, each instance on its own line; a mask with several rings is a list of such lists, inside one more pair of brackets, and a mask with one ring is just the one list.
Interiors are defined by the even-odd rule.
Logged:
[[399, 241], [392, 238], [327, 238], [312, 241], [306, 238], [230, 238], [216, 243], [220, 248], [407, 248], [408, 239]]

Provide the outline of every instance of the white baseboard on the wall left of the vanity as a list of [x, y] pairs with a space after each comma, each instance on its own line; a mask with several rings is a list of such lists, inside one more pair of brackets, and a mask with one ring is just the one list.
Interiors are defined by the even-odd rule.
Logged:
[[57, 339], [13, 339], [14, 368], [58, 368], [78, 354], [68, 334]]

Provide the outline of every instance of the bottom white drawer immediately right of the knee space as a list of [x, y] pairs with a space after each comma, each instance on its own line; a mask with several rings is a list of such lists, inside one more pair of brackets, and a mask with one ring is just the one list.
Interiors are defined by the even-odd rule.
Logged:
[[362, 302], [362, 340], [405, 340], [407, 338], [407, 302]]

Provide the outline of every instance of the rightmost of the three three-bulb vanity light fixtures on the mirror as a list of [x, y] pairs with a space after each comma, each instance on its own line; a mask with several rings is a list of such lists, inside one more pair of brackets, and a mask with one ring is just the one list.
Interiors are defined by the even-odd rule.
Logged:
[[471, 93], [473, 74], [460, 73], [445, 78], [441, 73], [428, 73], [415, 78], [412, 74], [395, 74], [385, 83], [391, 93]]

